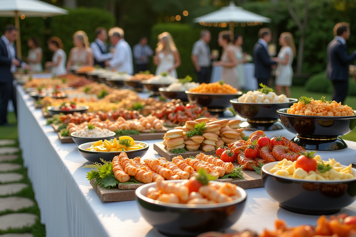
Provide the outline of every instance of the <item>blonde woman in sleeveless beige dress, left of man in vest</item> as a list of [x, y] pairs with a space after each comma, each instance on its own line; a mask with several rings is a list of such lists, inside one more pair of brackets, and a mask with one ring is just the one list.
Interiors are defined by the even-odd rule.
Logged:
[[89, 48], [88, 36], [84, 31], [77, 31], [73, 34], [73, 44], [69, 52], [67, 61], [67, 71], [71, 66], [93, 66], [93, 53]]

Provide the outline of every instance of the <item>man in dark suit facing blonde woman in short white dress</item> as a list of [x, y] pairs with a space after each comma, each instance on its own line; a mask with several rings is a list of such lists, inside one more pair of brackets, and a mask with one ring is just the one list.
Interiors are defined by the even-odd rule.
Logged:
[[[268, 54], [268, 43], [271, 42], [271, 29], [262, 28], [258, 31], [258, 41], [253, 47], [253, 61], [255, 63], [255, 77], [260, 83], [268, 86], [269, 77], [271, 77], [271, 67], [276, 65], [276, 61], [272, 61]], [[261, 87], [260, 87], [261, 88]]]

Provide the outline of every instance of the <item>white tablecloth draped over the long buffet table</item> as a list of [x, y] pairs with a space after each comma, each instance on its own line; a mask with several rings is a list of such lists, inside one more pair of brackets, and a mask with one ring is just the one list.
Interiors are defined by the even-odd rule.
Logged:
[[[19, 108], [18, 130], [24, 165], [31, 179], [35, 198], [41, 210], [41, 222], [46, 235], [51, 237], [163, 237], [140, 214], [136, 201], [103, 202], [89, 184], [82, 168], [89, 164], [78, 152], [77, 145], [61, 144], [53, 128], [46, 126], [41, 109], [35, 109], [32, 99], [21, 86], [17, 86]], [[251, 132], [250, 132], [251, 133]], [[247, 134], [250, 134], [247, 133]], [[268, 132], [267, 135], [294, 134], [286, 130]], [[153, 143], [145, 157], [159, 157]], [[337, 158], [341, 164], [356, 164], [356, 142], [346, 141], [349, 148], [342, 151], [318, 152], [324, 159]], [[278, 207], [264, 188], [246, 189], [247, 202], [239, 221], [228, 232], [246, 229], [261, 232], [273, 229], [276, 219], [288, 225], [315, 225], [318, 216], [294, 214]], [[342, 212], [356, 215], [356, 203]]]

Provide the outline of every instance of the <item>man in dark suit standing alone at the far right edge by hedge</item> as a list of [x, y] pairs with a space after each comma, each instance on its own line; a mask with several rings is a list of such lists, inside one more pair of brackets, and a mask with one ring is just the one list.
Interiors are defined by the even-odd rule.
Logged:
[[350, 25], [337, 23], [334, 27], [335, 38], [329, 43], [326, 51], [328, 65], [326, 77], [333, 83], [331, 100], [344, 104], [349, 88], [349, 64], [356, 59], [356, 51], [349, 55], [346, 40], [350, 38]]

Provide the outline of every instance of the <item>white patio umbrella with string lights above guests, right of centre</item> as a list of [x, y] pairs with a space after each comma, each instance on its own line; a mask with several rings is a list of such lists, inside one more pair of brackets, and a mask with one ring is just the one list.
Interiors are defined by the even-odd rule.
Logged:
[[229, 24], [229, 30], [232, 35], [234, 35], [234, 25], [236, 25], [236, 23], [241, 23], [242, 26], [245, 26], [246, 23], [248, 26], [257, 26], [262, 25], [262, 22], [271, 22], [271, 19], [244, 10], [242, 7], [237, 7], [234, 1], [230, 1], [229, 6], [221, 7], [217, 11], [197, 17], [194, 19], [194, 22], [199, 22], [199, 24], [203, 26], [220, 27], [226, 27], [227, 24]]

